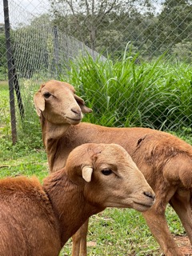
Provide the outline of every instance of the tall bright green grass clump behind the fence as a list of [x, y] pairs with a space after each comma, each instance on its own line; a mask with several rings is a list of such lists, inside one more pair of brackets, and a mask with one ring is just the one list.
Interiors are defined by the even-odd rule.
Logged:
[[117, 62], [88, 55], [70, 67], [61, 80], [73, 84], [94, 110], [86, 122], [182, 132], [190, 127], [190, 66], [167, 62], [163, 56], [140, 62], [138, 55], [129, 53]]

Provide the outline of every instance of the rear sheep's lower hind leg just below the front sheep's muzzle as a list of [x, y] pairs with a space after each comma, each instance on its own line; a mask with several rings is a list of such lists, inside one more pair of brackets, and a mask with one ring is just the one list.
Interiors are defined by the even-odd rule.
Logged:
[[154, 238], [158, 241], [158, 244], [162, 247], [162, 250], [166, 256], [183, 256], [182, 252], [178, 250], [177, 244], [174, 242], [174, 238], [170, 234], [170, 230], [167, 226], [165, 211], [158, 213], [153, 208], [142, 213], [146, 219], [146, 223], [150, 228]]

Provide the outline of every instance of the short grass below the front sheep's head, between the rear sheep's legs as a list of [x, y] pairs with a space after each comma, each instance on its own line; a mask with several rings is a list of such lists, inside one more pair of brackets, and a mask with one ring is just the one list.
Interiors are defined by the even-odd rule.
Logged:
[[[178, 216], [170, 206], [166, 216], [172, 234], [184, 235]], [[163, 255], [142, 214], [130, 209], [111, 208], [92, 216], [87, 241], [88, 255]], [[61, 255], [70, 255], [70, 251], [71, 240], [64, 246]]]

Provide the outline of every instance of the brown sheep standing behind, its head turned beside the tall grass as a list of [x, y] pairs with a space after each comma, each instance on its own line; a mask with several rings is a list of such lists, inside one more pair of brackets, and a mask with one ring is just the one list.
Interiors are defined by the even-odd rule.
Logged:
[[[159, 130], [81, 122], [83, 114], [92, 110], [66, 82], [52, 80], [43, 84], [34, 95], [34, 106], [51, 172], [62, 168], [70, 151], [83, 143], [117, 143], [125, 148], [156, 194], [154, 206], [143, 213], [151, 233], [166, 256], [182, 256], [170, 234], [165, 211], [170, 203], [192, 243], [192, 147]], [[87, 225], [88, 220], [73, 236], [73, 256], [86, 256]]]

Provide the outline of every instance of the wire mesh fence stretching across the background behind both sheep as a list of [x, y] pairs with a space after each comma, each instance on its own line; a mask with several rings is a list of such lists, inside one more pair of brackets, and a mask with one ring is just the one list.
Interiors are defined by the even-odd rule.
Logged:
[[[6, 2], [0, 3], [0, 79], [10, 81], [14, 130], [35, 126], [33, 95], [40, 84], [64, 78], [101, 124], [190, 131], [191, 1], [12, 0], [10, 46]], [[10, 114], [7, 95], [1, 96], [5, 134]]]

